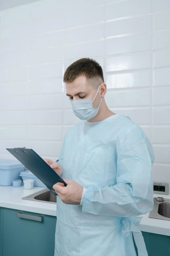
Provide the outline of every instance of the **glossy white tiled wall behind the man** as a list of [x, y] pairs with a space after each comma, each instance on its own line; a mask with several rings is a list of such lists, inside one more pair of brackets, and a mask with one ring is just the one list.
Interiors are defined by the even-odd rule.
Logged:
[[170, 182], [169, 0], [42, 0], [0, 17], [0, 158], [15, 146], [58, 158], [80, 122], [64, 71], [92, 57], [108, 107], [141, 126], [155, 152], [153, 179]]

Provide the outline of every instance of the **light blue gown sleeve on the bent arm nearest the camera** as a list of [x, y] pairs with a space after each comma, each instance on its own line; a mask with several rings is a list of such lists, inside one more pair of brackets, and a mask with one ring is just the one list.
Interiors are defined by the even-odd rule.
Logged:
[[153, 161], [152, 146], [143, 134], [119, 153], [115, 185], [103, 188], [88, 185], [82, 212], [121, 217], [150, 212], [153, 209]]

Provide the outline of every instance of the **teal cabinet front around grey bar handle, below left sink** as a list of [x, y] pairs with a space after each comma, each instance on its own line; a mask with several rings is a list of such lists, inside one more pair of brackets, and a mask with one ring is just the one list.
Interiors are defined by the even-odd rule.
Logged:
[[[17, 213], [44, 216], [42, 222]], [[3, 256], [54, 256], [56, 217], [4, 208]]]

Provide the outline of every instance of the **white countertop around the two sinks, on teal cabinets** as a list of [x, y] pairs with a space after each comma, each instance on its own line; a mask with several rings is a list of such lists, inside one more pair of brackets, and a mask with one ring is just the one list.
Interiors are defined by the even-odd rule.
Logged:
[[[0, 186], [0, 207], [56, 216], [56, 204], [21, 199], [42, 189], [44, 188], [24, 189], [23, 186], [20, 188]], [[170, 195], [154, 194], [154, 197], [158, 196], [170, 199]], [[140, 216], [143, 217], [139, 226], [141, 231], [170, 236], [170, 221], [149, 218], [149, 213]]]

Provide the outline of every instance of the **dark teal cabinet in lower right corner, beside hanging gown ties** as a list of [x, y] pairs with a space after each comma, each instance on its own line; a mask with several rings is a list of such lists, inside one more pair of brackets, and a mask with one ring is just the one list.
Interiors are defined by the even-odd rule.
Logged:
[[[170, 236], [142, 232], [148, 256], [170, 256]], [[135, 246], [136, 254], [137, 248]], [[138, 254], [137, 254], [138, 255]]]

